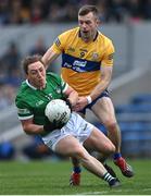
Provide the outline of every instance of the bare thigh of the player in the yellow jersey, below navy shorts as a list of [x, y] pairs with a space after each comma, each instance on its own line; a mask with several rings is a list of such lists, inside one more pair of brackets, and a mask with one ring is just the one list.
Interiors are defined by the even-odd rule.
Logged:
[[91, 108], [99, 120], [105, 124], [106, 122], [116, 122], [114, 106], [109, 97], [102, 97]]

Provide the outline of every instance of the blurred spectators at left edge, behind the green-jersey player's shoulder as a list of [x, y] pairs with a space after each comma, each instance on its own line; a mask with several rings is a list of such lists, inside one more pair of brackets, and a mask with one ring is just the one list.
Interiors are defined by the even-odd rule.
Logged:
[[16, 89], [21, 83], [20, 51], [11, 42], [8, 51], [0, 58], [0, 109], [4, 109], [14, 101]]

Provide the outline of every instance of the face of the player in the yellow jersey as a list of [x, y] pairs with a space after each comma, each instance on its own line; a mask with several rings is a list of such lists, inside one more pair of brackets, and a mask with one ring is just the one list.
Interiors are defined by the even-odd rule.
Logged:
[[80, 28], [81, 38], [86, 41], [92, 40], [96, 36], [99, 21], [89, 12], [87, 15], [78, 15], [78, 25]]

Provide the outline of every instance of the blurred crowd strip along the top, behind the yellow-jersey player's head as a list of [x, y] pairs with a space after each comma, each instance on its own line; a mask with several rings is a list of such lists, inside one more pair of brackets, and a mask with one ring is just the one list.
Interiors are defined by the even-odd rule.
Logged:
[[74, 22], [83, 4], [96, 4], [105, 23], [151, 20], [151, 0], [0, 0], [0, 25]]

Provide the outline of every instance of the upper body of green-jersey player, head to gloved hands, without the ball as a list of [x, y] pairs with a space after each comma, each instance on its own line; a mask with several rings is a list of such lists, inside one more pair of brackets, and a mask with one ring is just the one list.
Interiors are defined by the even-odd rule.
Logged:
[[27, 134], [47, 134], [47, 131], [58, 127], [56, 124], [46, 122], [47, 103], [52, 99], [64, 99], [65, 97], [72, 106], [75, 106], [78, 95], [59, 75], [46, 74], [40, 56], [27, 57], [23, 61], [23, 69], [26, 81], [22, 83], [15, 99], [18, 119]]

